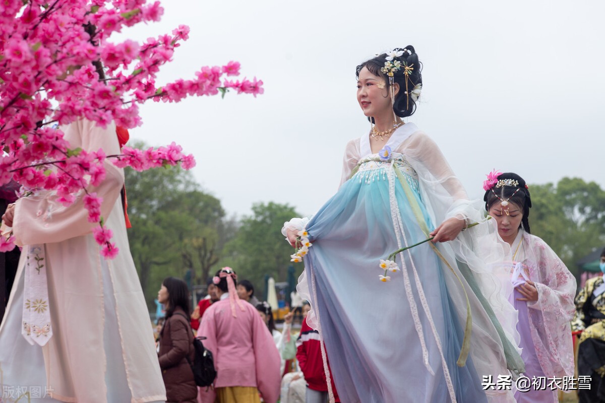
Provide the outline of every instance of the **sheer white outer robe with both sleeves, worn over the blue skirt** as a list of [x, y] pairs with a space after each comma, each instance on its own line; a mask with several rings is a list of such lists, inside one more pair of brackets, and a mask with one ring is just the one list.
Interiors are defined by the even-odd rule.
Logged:
[[[446, 162], [439, 147], [423, 132], [419, 131], [413, 123], [407, 123], [397, 129], [387, 145], [391, 147], [393, 155], [401, 154], [405, 161], [411, 167], [410, 172], [406, 172], [410, 176], [414, 176], [419, 183], [419, 195], [424, 204], [431, 221], [434, 225], [439, 225], [445, 219], [456, 217], [466, 219], [467, 222], [483, 222], [485, 221], [485, 210], [482, 203], [471, 202], [466, 195], [465, 190], [452, 172], [450, 166]], [[370, 149], [368, 135], [352, 140], [347, 144], [345, 149], [344, 167], [342, 173], [341, 184], [344, 184], [353, 173], [353, 170], [358, 163], [363, 162], [365, 158], [373, 156]], [[389, 208], [385, 205], [384, 208]], [[304, 221], [303, 221], [304, 223]], [[311, 225], [311, 227], [309, 227]], [[307, 225], [307, 229], [312, 228], [313, 222]], [[427, 234], [428, 236], [428, 234]], [[310, 237], [313, 238], [313, 230], [310, 230]], [[313, 242], [313, 239], [311, 239]], [[410, 244], [421, 239], [410, 240]], [[321, 242], [321, 239], [318, 239]], [[368, 240], [371, 242], [371, 239]], [[438, 243], [437, 248], [447, 262], [453, 267], [457, 276], [462, 279], [464, 289], [459, 281], [449, 269], [443, 270], [443, 277], [453, 301], [454, 309], [456, 310], [457, 320], [460, 324], [466, 321], [466, 290], [473, 315], [473, 329], [471, 334], [471, 346], [469, 350], [469, 358], [472, 360], [476, 373], [481, 375], [492, 375], [497, 379], [498, 375], [506, 375], [508, 372], [505, 358], [505, 349], [508, 349], [508, 354], [511, 356], [511, 369], [513, 372], [522, 372], [523, 364], [518, 356], [518, 333], [515, 330], [517, 323], [517, 315], [514, 308], [508, 303], [507, 297], [512, 287], [509, 281], [508, 272], [503, 269], [505, 257], [509, 254], [508, 244], [502, 242], [497, 237], [495, 222], [487, 222], [477, 225], [460, 233], [456, 240], [445, 243]], [[313, 253], [313, 247], [309, 253]], [[386, 256], [380, 256], [379, 259], [385, 259]], [[306, 257], [307, 259], [307, 257]], [[307, 260], [306, 260], [307, 261]], [[376, 259], [376, 268], [378, 268], [378, 259]], [[326, 268], [327, 270], [328, 268]], [[367, 268], [370, 270], [371, 268]], [[465, 280], [472, 277], [473, 285], [469, 285]], [[378, 281], [378, 270], [376, 272], [376, 284]], [[397, 273], [396, 276], [400, 276]], [[300, 294], [313, 301], [312, 292], [310, 290], [311, 280], [309, 274], [304, 272], [299, 279], [298, 289]], [[393, 276], [393, 274], [391, 274]], [[413, 277], [412, 277], [413, 280]], [[380, 283], [381, 286], [388, 287], [390, 283]], [[364, 287], [370, 285], [364, 285]], [[417, 285], [414, 285], [417, 286]], [[427, 286], [427, 285], [424, 285]], [[473, 290], [478, 291], [474, 292]], [[480, 292], [479, 292], [480, 291]], [[359, 290], [352, 291], [359, 292]], [[374, 292], [364, 288], [363, 292]], [[376, 291], [380, 292], [380, 291]], [[402, 291], [404, 292], [404, 291]], [[333, 297], [338, 298], [337, 295]], [[397, 301], [393, 301], [392, 309], [410, 309], [406, 307], [407, 301], [405, 297], [401, 297], [399, 305]], [[483, 300], [482, 300], [483, 298]], [[313, 305], [313, 303], [312, 303]], [[397, 308], [395, 308], [397, 306]], [[487, 308], [485, 308], [487, 306]], [[321, 308], [321, 307], [320, 307]], [[420, 305], [417, 309], [422, 310]], [[321, 311], [321, 309], [320, 309]], [[487, 312], [491, 311], [491, 312]], [[499, 335], [499, 330], [495, 327], [491, 317], [494, 317], [494, 312], [502, 325], [500, 334], [505, 339], [503, 346], [502, 338]], [[355, 312], [355, 315], [365, 315], [367, 312]], [[375, 314], [372, 312], [371, 315]], [[315, 328], [318, 326], [315, 315], [315, 308], [309, 313], [307, 320], [310, 321], [310, 326]], [[385, 318], [386, 320], [386, 318]], [[414, 326], [411, 323], [402, 324], [401, 326]], [[425, 337], [432, 337], [431, 330], [428, 327], [425, 329]], [[430, 352], [431, 354], [435, 352]], [[330, 355], [330, 352], [329, 352]], [[330, 360], [332, 360], [330, 358]], [[422, 363], [408, 363], [422, 367]], [[423, 367], [424, 368], [424, 367]], [[476, 379], [480, 383], [481, 378]], [[422, 385], [418, 385], [422, 389]], [[336, 387], [340, 386], [338, 383]], [[514, 401], [512, 393], [506, 391], [488, 390], [486, 395], [490, 401]], [[420, 396], [418, 396], [420, 398]]]

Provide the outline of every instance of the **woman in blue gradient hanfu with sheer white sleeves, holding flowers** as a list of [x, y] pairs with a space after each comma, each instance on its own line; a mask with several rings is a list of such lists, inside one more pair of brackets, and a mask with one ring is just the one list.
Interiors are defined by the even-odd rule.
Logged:
[[[402, 122], [416, 108], [420, 69], [411, 46], [357, 67], [371, 131], [347, 144], [336, 195], [310, 220], [284, 224], [292, 245], [301, 236], [308, 245], [292, 256], [304, 256], [298, 291], [341, 401], [514, 402], [505, 380], [514, 385], [523, 361], [506, 300], [508, 245], [437, 145]], [[397, 266], [385, 262], [431, 236], [398, 253]], [[502, 390], [489, 382], [499, 376]]]

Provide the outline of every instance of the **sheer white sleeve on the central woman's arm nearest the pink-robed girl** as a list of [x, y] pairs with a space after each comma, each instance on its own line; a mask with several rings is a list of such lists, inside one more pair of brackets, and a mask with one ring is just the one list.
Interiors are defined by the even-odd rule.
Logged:
[[[449, 262], [456, 262], [458, 268], [466, 273], [464, 276], [467, 281], [476, 284], [473, 292], [484, 301], [488, 316], [498, 318], [502, 326], [498, 333], [503, 340], [506, 338], [510, 343], [505, 350], [511, 352], [517, 349], [517, 352], [520, 352], [520, 336], [516, 329], [517, 311], [508, 302], [512, 285], [510, 274], [506, 271], [509, 266], [506, 266], [505, 262], [510, 256], [510, 246], [498, 236], [494, 220], [486, 222], [488, 220], [483, 201], [469, 200], [437, 144], [423, 132], [418, 131], [410, 135], [397, 147], [396, 152], [404, 154], [404, 158], [416, 171], [420, 198], [434, 225], [437, 226], [452, 217], [466, 219], [469, 223], [482, 223], [459, 233], [456, 239], [450, 242], [439, 243], [437, 248]], [[448, 289], [454, 300], [465, 300], [465, 296], [459, 294], [460, 288], [454, 283], [451, 288], [448, 286]], [[488, 334], [491, 331], [488, 330], [492, 326], [491, 321], [480, 318], [479, 314], [473, 315], [473, 323]], [[471, 344], [476, 349], [485, 348], [486, 341], [481, 341], [482, 336], [475, 330], [473, 335]], [[514, 359], [520, 360], [518, 356]], [[522, 365], [522, 361], [518, 361], [509, 368], [516, 368], [516, 373]]]

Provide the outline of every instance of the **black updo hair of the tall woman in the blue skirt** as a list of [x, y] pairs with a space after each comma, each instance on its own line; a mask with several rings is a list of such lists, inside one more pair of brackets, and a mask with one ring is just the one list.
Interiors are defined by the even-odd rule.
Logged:
[[[401, 69], [397, 70], [393, 76], [393, 81], [399, 84], [399, 93], [397, 93], [395, 97], [395, 102], [393, 104], [393, 111], [395, 114], [401, 118], [405, 118], [411, 116], [416, 112], [416, 102], [411, 97], [411, 91], [414, 89], [414, 86], [418, 84], [422, 84], [422, 63], [418, 60], [418, 55], [416, 51], [414, 51], [414, 47], [412, 45], [407, 45], [405, 48], [395, 48], [396, 50], [401, 50], [404, 52], [402, 56], [397, 57], [394, 60], [399, 60], [401, 62]], [[359, 80], [359, 72], [361, 72], [362, 68], [367, 68], [370, 73], [374, 74], [374, 76], [380, 76], [385, 79], [387, 83], [387, 88], [389, 88], [388, 76], [385, 73], [382, 73], [381, 68], [384, 67], [384, 63], [387, 62], [388, 54], [383, 53], [374, 57], [373, 59], [366, 60], [361, 63], [361, 65], [356, 68], [356, 77]], [[393, 61], [394, 61], [393, 60]], [[408, 83], [407, 83], [407, 91], [409, 94], [405, 94], [406, 86], [405, 86], [405, 74], [404, 74], [404, 62], [407, 66], [413, 68], [411, 72], [408, 72]], [[409, 100], [408, 100], [408, 95]], [[371, 119], [371, 118], [368, 118]]]

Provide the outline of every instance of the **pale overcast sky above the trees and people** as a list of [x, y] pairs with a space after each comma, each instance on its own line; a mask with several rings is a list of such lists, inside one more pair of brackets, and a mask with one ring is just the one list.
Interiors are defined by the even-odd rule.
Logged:
[[482, 197], [493, 168], [530, 184], [575, 176], [605, 187], [602, 0], [162, 5], [162, 22], [124, 33], [140, 41], [191, 27], [159, 83], [229, 60], [264, 82], [257, 98], [148, 103], [131, 131], [193, 153], [195, 178], [228, 214], [269, 201], [318, 210], [338, 187], [345, 144], [368, 133], [355, 66], [406, 45], [424, 63], [409, 121], [439, 144], [469, 195]]

